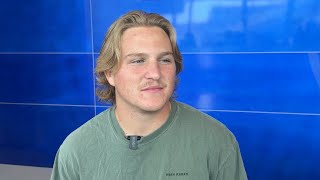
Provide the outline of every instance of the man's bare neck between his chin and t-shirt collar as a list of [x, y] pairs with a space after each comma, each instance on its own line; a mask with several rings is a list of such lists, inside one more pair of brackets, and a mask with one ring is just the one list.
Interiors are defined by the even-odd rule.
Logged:
[[147, 136], [159, 129], [167, 121], [170, 110], [170, 102], [167, 102], [162, 109], [155, 112], [128, 110], [117, 106], [115, 115], [126, 136]]

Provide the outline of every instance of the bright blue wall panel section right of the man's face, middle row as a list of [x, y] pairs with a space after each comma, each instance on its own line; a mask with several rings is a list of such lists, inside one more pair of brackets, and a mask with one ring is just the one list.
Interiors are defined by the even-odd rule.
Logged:
[[319, 54], [185, 54], [177, 94], [200, 109], [320, 113]]

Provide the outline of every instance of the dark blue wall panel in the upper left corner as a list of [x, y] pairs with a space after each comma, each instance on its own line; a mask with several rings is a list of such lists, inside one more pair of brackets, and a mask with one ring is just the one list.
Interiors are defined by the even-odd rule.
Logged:
[[0, 22], [0, 52], [91, 52], [86, 0], [5, 1]]

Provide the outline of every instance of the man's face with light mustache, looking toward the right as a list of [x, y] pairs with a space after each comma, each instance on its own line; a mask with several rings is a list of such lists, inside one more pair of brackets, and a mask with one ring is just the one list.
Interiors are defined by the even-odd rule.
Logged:
[[176, 65], [167, 34], [159, 27], [134, 27], [120, 43], [120, 68], [106, 75], [115, 87], [117, 107], [155, 112], [169, 106]]

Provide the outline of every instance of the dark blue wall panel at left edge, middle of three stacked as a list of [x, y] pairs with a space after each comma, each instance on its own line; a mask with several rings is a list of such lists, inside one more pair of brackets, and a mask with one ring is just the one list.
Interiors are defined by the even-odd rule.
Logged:
[[0, 55], [0, 102], [93, 104], [91, 55]]

